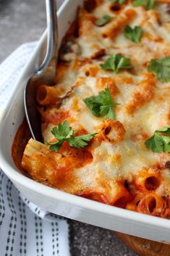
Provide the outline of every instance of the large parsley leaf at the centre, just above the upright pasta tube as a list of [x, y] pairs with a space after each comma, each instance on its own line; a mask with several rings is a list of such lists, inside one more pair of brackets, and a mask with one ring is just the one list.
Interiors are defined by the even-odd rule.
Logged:
[[113, 101], [108, 87], [105, 91], [100, 91], [97, 96], [85, 98], [83, 101], [95, 117], [115, 120], [114, 105], [117, 103]]

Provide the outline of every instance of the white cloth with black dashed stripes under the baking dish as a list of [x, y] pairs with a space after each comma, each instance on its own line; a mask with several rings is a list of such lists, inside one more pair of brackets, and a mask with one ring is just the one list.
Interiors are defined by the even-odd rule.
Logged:
[[[23, 44], [0, 65], [0, 114], [36, 43]], [[9, 152], [10, 154], [10, 152]], [[67, 220], [22, 197], [0, 169], [0, 255], [69, 256]]]

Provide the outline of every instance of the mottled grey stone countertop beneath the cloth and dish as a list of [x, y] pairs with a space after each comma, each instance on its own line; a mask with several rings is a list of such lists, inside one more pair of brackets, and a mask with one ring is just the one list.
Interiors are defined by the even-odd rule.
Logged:
[[[45, 28], [45, 0], [0, 0], [0, 62], [20, 44], [38, 40]], [[75, 220], [69, 225], [72, 256], [135, 256], [114, 231]]]

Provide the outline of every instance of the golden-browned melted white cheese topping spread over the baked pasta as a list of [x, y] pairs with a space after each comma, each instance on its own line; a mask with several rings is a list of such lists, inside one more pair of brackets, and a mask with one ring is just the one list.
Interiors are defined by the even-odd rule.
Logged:
[[[146, 11], [145, 7], [132, 7], [131, 1], [122, 5], [108, 0], [96, 2], [91, 12], [79, 9], [79, 36], [67, 37], [61, 50], [56, 87], [63, 86], [67, 93], [58, 106], [49, 105], [46, 111], [41, 111], [42, 133], [45, 140], [52, 140], [51, 128], [64, 120], [68, 120], [73, 130], [101, 133], [106, 120], [95, 117], [83, 99], [98, 95], [107, 86], [114, 101], [119, 103], [114, 107], [115, 122], [119, 123], [115, 123], [110, 138], [101, 139], [98, 135], [99, 142], [91, 142], [92, 160], [72, 170], [74, 182], [60, 183], [56, 187], [75, 194], [84, 190], [101, 193], [107, 190], [105, 194], [112, 202], [113, 194], [111, 196], [108, 188], [117, 188], [115, 183], [119, 181], [132, 182], [141, 170], [152, 173], [154, 169], [163, 178], [157, 193], [167, 196], [170, 173], [165, 163], [170, 155], [152, 152], [145, 147], [145, 141], [156, 129], [170, 125], [170, 83], [161, 83], [147, 71], [150, 59], [170, 55], [170, 4], [158, 1], [154, 9]], [[103, 27], [96, 26], [95, 20], [103, 15], [110, 15], [111, 22]], [[126, 25], [143, 28], [140, 44], [125, 38]], [[119, 70], [117, 74], [102, 70], [101, 63], [113, 53], [129, 57], [132, 70]], [[116, 133], [121, 134], [119, 124], [124, 132], [121, 139], [116, 140]], [[70, 153], [61, 149], [61, 154], [68, 157]]]

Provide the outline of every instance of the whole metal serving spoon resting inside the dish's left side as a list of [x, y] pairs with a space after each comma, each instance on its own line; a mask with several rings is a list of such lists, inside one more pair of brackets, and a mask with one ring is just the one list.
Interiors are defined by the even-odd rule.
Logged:
[[41, 116], [37, 110], [36, 92], [38, 86], [54, 86], [56, 62], [58, 57], [58, 28], [56, 17], [56, 0], [46, 0], [47, 49], [41, 67], [30, 76], [24, 91], [24, 105], [27, 123], [33, 139], [42, 141]]

